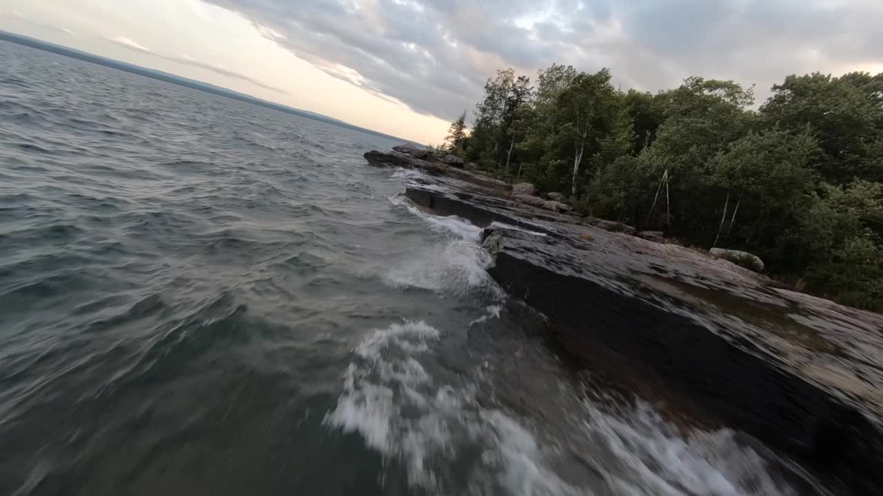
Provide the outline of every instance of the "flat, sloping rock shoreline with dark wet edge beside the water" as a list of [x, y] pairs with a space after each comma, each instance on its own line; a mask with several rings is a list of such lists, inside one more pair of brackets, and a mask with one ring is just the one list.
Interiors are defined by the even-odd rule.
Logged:
[[555, 199], [528, 201], [462, 162], [400, 147], [365, 158], [426, 172], [406, 189], [411, 201], [486, 228], [488, 273], [547, 316], [587, 368], [639, 375], [794, 456], [837, 492], [883, 493], [883, 316], [570, 215]]

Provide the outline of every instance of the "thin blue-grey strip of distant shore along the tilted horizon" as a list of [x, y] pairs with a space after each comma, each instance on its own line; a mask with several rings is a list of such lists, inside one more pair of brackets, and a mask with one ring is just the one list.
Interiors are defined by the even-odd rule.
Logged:
[[63, 47], [61, 45], [57, 45], [55, 43], [49, 43], [48, 41], [37, 40], [36, 38], [31, 38], [30, 36], [25, 36], [23, 34], [15, 34], [10, 33], [8, 31], [4, 31], [0, 29], [0, 41], [9, 41], [11, 43], [15, 43], [18, 45], [22, 45], [25, 47], [29, 47], [32, 49], [39, 49], [43, 51], [47, 51], [49, 53], [54, 53], [60, 56], [68, 56], [71, 58], [75, 58], [78, 60], [82, 60], [84, 62], [89, 62], [92, 64], [102, 65], [104, 67], [109, 67], [110, 69], [117, 69], [118, 71], [129, 72], [131, 74], [136, 74], [139, 76], [144, 76], [145, 78], [156, 79], [160, 81], [164, 81], [167, 83], [171, 83], [177, 86], [184, 86], [188, 88], [192, 88], [195, 90], [203, 91], [210, 94], [216, 94], [219, 96], [223, 96], [226, 98], [230, 98], [232, 100], [245, 101], [245, 103], [251, 103], [253, 105], [258, 105], [260, 107], [265, 107], [267, 109], [274, 109], [285, 112], [287, 114], [291, 114], [294, 116], [304, 117], [307, 119], [312, 119], [314, 121], [319, 121], [325, 124], [333, 124], [338, 127], [343, 127], [344, 129], [351, 129], [353, 131], [358, 132], [366, 132], [367, 134], [372, 134], [374, 136], [379, 136], [385, 139], [391, 139], [393, 141], [399, 142], [409, 142], [415, 143], [410, 139], [402, 139], [396, 136], [392, 136], [383, 132], [377, 132], [370, 129], [366, 129], [364, 127], [359, 127], [358, 125], [345, 123], [341, 120], [335, 119], [333, 117], [322, 116], [321, 114], [316, 114], [314, 112], [310, 112], [308, 110], [295, 109], [293, 107], [289, 107], [287, 105], [282, 105], [281, 103], [275, 103], [273, 101], [261, 100], [260, 98], [256, 98], [254, 96], [250, 96], [248, 94], [238, 93], [236, 91], [223, 88], [220, 86], [214, 86], [209, 83], [204, 83], [202, 81], [197, 81], [195, 79], [183, 78], [181, 76], [177, 76], [175, 74], [171, 74], [169, 72], [156, 71], [155, 69], [148, 69], [147, 67], [141, 67], [135, 64], [128, 64], [125, 62], [120, 62], [118, 60], [114, 60], [112, 58], [107, 58], [104, 56], [93, 55], [84, 51], [80, 51], [78, 49], [70, 49], [67, 47]]

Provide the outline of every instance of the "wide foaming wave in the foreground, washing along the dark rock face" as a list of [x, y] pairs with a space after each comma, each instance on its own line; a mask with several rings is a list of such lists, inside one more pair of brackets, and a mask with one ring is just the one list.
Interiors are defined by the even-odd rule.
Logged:
[[[685, 435], [643, 402], [615, 415], [577, 400], [569, 432], [543, 432], [479, 400], [479, 384], [446, 384], [428, 372], [442, 337], [422, 320], [372, 331], [323, 422], [402, 462], [413, 487], [446, 494], [466, 482], [474, 494], [532, 496], [797, 493], [736, 432]], [[558, 394], [578, 397], [568, 388]]]

